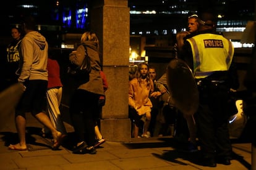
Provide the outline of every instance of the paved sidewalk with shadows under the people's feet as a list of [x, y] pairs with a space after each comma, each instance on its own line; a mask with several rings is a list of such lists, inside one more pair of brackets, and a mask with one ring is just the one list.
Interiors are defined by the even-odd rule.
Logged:
[[[19, 152], [7, 148], [18, 141], [14, 123], [9, 121], [0, 131], [0, 169], [213, 169], [201, 165], [199, 153], [177, 152], [177, 142], [172, 137], [107, 141], [97, 148], [96, 155], [75, 155], [70, 149], [74, 130], [65, 125], [68, 138], [59, 150], [53, 151], [51, 141], [38, 135], [41, 124], [28, 116], [28, 150]], [[250, 169], [251, 144], [233, 140], [233, 152], [231, 165], [217, 164], [215, 169]]]

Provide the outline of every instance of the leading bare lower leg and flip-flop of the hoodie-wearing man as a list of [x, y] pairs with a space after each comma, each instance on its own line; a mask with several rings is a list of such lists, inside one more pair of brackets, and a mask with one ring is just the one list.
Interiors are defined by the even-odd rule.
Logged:
[[11, 150], [27, 150], [26, 145], [26, 119], [22, 116], [17, 116], [15, 118], [15, 126], [19, 135], [20, 142], [15, 145], [9, 145]]

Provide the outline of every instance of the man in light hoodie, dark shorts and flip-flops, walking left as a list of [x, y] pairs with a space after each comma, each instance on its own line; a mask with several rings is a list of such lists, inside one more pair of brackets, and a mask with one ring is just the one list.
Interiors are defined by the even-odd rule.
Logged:
[[53, 135], [53, 150], [61, 145], [64, 135], [57, 131], [46, 110], [46, 90], [48, 84], [48, 42], [35, 27], [35, 18], [25, 17], [22, 22], [25, 36], [20, 44], [19, 83], [22, 83], [24, 93], [15, 108], [15, 125], [19, 134], [19, 143], [9, 145], [10, 150], [27, 150], [25, 141], [26, 117], [30, 112], [43, 125], [51, 130]]

